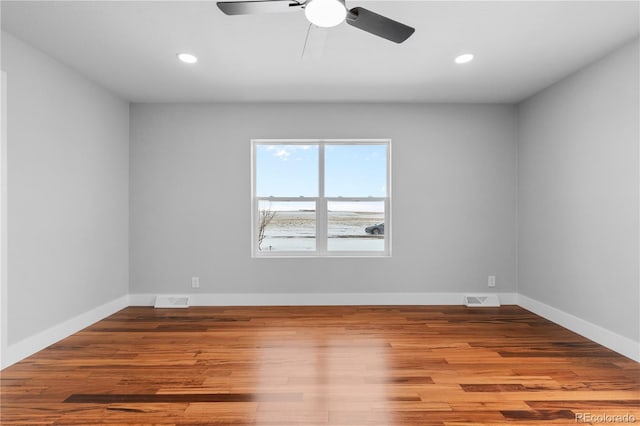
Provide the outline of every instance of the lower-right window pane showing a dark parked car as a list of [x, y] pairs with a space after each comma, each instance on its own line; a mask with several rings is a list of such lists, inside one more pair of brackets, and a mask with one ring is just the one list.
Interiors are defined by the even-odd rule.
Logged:
[[329, 201], [330, 251], [384, 251], [384, 201]]

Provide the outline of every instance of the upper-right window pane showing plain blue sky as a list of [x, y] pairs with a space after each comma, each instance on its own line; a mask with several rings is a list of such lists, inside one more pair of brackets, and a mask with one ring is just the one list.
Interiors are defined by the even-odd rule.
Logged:
[[387, 145], [326, 145], [327, 197], [386, 197]]

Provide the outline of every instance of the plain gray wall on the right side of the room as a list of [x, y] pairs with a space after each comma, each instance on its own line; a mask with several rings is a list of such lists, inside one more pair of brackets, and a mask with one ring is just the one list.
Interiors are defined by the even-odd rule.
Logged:
[[638, 41], [519, 106], [519, 293], [639, 339]]

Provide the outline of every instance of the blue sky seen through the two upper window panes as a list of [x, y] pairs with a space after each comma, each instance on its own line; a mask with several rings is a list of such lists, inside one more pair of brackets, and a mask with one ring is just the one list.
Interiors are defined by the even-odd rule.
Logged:
[[[325, 196], [386, 196], [386, 145], [325, 145]], [[256, 146], [256, 195], [318, 195], [317, 145]]]

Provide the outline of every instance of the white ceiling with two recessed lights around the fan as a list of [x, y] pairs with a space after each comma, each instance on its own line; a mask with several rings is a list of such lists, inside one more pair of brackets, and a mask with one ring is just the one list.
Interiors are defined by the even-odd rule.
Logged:
[[[638, 1], [347, 0], [416, 28], [397, 45], [304, 13], [214, 1], [7, 1], [2, 29], [132, 102], [517, 102], [639, 34]], [[324, 31], [324, 32], [323, 32]], [[198, 56], [196, 65], [176, 53]], [[476, 59], [456, 65], [472, 52]]]

